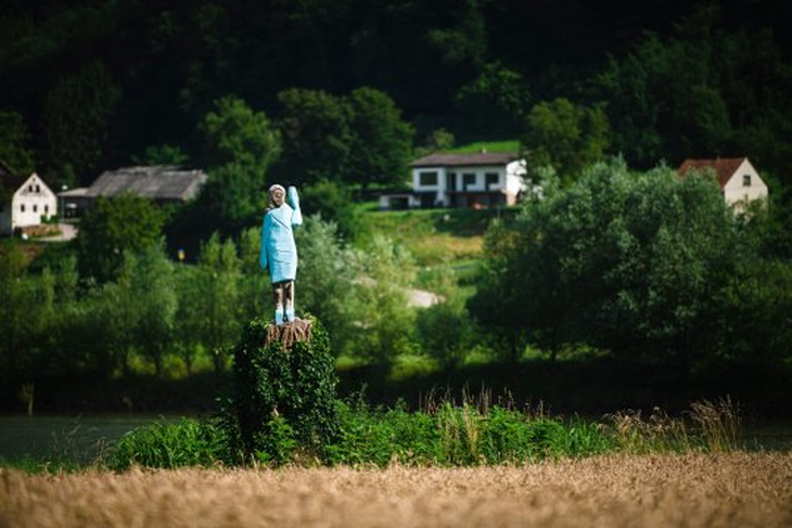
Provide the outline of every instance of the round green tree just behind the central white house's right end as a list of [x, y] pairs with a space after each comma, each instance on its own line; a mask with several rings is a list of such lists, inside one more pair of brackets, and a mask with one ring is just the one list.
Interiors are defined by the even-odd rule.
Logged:
[[[608, 118], [599, 106], [587, 107], [560, 98], [531, 108], [521, 145], [533, 169], [549, 166], [571, 181], [603, 158], [608, 134]], [[536, 178], [538, 173], [529, 176]]]

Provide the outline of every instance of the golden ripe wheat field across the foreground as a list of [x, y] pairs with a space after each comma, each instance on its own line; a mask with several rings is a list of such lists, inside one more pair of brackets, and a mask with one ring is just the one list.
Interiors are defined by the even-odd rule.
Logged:
[[523, 467], [0, 471], [2, 527], [789, 527], [792, 453]]

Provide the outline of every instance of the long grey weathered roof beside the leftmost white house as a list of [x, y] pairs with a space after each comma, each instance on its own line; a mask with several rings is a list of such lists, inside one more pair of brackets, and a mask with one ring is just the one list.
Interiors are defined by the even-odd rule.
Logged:
[[133, 193], [152, 199], [186, 202], [197, 195], [206, 181], [203, 170], [186, 170], [174, 165], [125, 167], [102, 172], [85, 196], [116, 196]]

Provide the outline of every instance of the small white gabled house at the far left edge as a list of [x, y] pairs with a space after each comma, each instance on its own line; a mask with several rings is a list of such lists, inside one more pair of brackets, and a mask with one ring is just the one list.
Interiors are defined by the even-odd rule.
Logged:
[[3, 173], [3, 183], [13, 191], [10, 203], [2, 204], [0, 233], [12, 234], [16, 228], [38, 226], [42, 217], [58, 215], [58, 197], [34, 172], [26, 180]]

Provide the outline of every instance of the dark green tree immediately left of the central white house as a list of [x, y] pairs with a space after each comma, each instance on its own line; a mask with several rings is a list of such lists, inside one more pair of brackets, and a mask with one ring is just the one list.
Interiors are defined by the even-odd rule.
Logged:
[[412, 127], [386, 94], [358, 88], [348, 96], [353, 139], [347, 162], [348, 181], [401, 185], [408, 179], [412, 156]]

